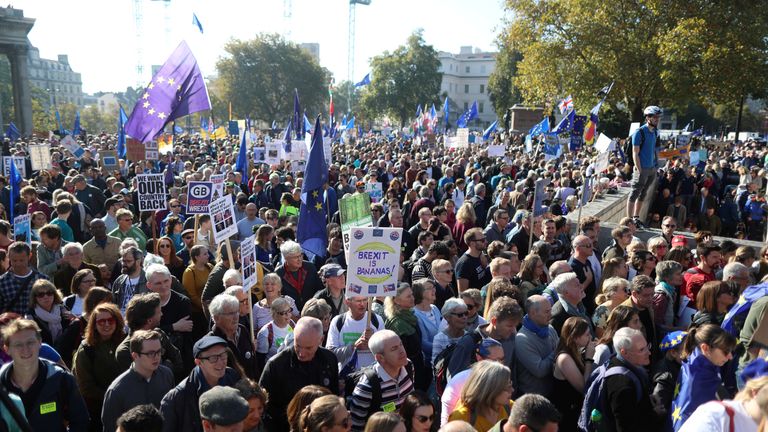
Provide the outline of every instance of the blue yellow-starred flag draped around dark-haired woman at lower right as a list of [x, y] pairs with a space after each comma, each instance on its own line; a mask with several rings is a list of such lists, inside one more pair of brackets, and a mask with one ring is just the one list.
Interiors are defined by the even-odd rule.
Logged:
[[683, 362], [677, 377], [671, 408], [675, 431], [680, 430], [696, 408], [717, 399], [717, 388], [721, 383], [720, 368], [696, 348]]

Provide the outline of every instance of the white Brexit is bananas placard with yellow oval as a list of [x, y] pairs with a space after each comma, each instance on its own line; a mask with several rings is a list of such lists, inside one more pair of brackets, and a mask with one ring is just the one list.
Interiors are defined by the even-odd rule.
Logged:
[[352, 228], [347, 297], [394, 296], [400, 268], [402, 228]]

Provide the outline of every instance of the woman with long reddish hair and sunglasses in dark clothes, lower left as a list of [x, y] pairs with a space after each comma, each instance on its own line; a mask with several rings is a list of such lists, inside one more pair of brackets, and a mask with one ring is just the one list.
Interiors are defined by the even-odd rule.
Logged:
[[85, 338], [75, 353], [72, 373], [91, 416], [90, 431], [101, 431], [104, 394], [123, 370], [115, 359], [115, 350], [123, 341], [125, 323], [120, 309], [102, 303], [93, 310], [85, 328]]

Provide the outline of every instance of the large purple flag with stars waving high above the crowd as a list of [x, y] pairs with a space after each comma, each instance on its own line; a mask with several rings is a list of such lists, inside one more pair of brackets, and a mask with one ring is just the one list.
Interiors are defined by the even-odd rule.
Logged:
[[152, 141], [170, 121], [209, 109], [205, 80], [195, 56], [182, 41], [144, 89], [125, 132], [141, 142]]

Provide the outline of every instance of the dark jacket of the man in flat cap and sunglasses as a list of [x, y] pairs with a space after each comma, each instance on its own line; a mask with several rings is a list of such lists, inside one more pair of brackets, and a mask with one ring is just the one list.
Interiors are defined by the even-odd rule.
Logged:
[[[234, 369], [227, 368], [219, 385], [233, 386], [240, 379]], [[169, 391], [160, 402], [163, 414], [163, 432], [203, 432], [200, 420], [200, 395], [210, 390], [200, 367], [195, 367], [189, 377]]]

